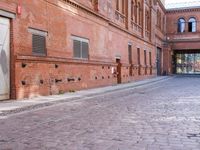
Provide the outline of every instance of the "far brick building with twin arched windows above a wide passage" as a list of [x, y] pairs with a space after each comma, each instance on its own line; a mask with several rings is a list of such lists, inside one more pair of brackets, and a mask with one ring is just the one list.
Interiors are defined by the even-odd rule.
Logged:
[[200, 7], [168, 9], [163, 70], [200, 74]]

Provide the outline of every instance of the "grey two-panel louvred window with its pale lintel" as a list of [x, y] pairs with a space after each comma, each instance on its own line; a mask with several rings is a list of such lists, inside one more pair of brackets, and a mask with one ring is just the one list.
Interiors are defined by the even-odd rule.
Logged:
[[79, 37], [72, 37], [73, 39], [73, 54], [74, 58], [88, 59], [89, 55], [89, 40]]

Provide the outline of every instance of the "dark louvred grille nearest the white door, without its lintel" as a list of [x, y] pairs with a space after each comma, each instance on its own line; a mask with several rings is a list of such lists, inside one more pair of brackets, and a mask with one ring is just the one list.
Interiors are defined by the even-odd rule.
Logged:
[[41, 35], [32, 35], [33, 54], [46, 55], [46, 39]]

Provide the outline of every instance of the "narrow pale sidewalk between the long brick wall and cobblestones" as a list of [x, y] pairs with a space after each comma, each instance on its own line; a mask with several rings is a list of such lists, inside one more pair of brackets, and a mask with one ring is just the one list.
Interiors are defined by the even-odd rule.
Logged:
[[80, 100], [90, 98], [91, 96], [97, 96], [108, 92], [114, 92], [118, 90], [124, 90], [134, 87], [139, 87], [143, 85], [152, 84], [159, 81], [164, 81], [171, 79], [172, 77], [163, 76], [163, 77], [155, 77], [152, 79], [146, 79], [142, 81], [107, 86], [95, 89], [87, 89], [82, 91], [77, 91], [75, 93], [65, 93], [62, 95], [53, 95], [53, 96], [41, 96], [32, 99], [25, 100], [9, 100], [9, 101], [0, 101], [0, 116], [11, 115], [14, 113], [20, 113], [26, 110], [33, 110], [37, 108], [42, 108], [45, 106], [51, 106], [54, 104], [69, 102], [72, 100]]

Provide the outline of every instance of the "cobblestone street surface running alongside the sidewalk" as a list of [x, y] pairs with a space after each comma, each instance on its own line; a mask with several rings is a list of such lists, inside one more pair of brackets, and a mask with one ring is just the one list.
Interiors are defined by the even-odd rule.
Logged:
[[200, 150], [200, 78], [0, 118], [1, 150]]

